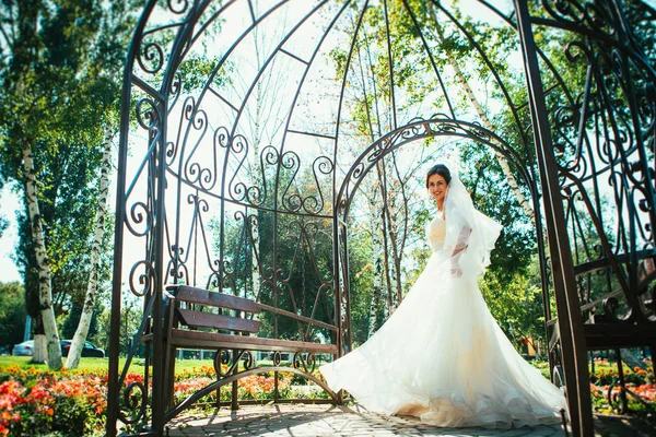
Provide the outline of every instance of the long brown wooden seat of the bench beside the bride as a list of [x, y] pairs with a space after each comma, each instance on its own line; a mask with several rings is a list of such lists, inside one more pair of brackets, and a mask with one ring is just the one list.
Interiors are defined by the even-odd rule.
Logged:
[[291, 340], [263, 339], [261, 336], [230, 335], [214, 332], [172, 329], [169, 344], [175, 346], [216, 350], [244, 349], [249, 351], [314, 352], [337, 354], [337, 345], [300, 342]]

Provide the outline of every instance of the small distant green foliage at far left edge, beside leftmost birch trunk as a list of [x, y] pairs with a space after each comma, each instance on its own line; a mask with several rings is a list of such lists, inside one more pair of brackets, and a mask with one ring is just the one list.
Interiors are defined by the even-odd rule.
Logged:
[[25, 331], [25, 290], [17, 282], [0, 283], [0, 345], [23, 341]]

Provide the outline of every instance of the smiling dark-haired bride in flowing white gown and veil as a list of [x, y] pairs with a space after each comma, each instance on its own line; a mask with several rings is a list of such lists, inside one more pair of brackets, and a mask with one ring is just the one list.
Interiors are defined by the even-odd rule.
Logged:
[[431, 258], [366, 343], [320, 367], [328, 386], [371, 411], [436, 426], [558, 421], [563, 393], [515, 351], [477, 285], [501, 225], [473, 208], [446, 166], [433, 166], [425, 185], [437, 205], [426, 226]]

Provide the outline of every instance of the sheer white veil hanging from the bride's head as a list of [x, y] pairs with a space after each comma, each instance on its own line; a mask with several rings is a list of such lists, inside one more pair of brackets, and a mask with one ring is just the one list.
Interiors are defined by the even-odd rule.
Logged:
[[457, 172], [452, 170], [450, 175], [452, 180], [444, 201], [444, 249], [452, 253], [454, 250], [464, 249], [454, 257], [454, 262], [459, 264], [464, 275], [476, 280], [490, 264], [490, 252], [503, 226], [477, 211]]

